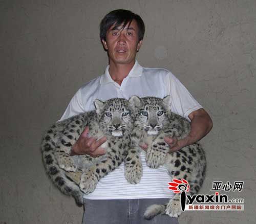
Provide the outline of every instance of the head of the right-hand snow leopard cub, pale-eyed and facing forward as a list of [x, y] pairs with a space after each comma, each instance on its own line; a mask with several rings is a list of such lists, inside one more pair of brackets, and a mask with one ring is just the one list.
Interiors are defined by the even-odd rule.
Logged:
[[132, 96], [130, 103], [136, 111], [135, 125], [143, 128], [148, 135], [157, 135], [159, 130], [168, 123], [171, 97]]

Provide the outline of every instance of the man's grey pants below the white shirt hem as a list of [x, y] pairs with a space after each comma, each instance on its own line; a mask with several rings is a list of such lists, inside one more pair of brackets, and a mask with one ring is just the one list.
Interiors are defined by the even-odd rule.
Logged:
[[167, 198], [89, 200], [84, 199], [83, 224], [178, 224], [177, 218], [157, 215], [152, 220], [143, 218], [146, 208], [153, 204], [165, 204]]

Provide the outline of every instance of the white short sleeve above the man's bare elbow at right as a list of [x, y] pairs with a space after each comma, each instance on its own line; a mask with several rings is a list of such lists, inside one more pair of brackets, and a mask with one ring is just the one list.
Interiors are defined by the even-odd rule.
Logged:
[[168, 73], [167, 79], [167, 92], [172, 97], [172, 111], [190, 121], [188, 115], [202, 106], [172, 73]]

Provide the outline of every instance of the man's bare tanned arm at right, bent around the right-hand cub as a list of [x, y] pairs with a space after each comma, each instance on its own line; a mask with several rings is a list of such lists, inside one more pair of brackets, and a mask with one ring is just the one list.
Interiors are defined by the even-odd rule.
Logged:
[[164, 138], [165, 142], [170, 146], [170, 151], [177, 151], [187, 145], [193, 144], [202, 139], [212, 128], [212, 120], [204, 109], [198, 109], [188, 115], [191, 120], [190, 132], [184, 139]]

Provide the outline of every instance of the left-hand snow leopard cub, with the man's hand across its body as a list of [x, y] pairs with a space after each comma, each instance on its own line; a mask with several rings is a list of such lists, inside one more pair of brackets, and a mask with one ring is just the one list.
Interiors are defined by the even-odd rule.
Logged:
[[[129, 101], [113, 98], [105, 102], [95, 100], [94, 104], [96, 110], [56, 122], [41, 145], [42, 159], [51, 180], [62, 193], [73, 196], [79, 206], [83, 204], [82, 192], [93, 192], [100, 178], [121, 164], [133, 128]], [[106, 150], [104, 155], [97, 158], [69, 155], [86, 126], [90, 136], [97, 139], [106, 136], [107, 141], [101, 145]]]

